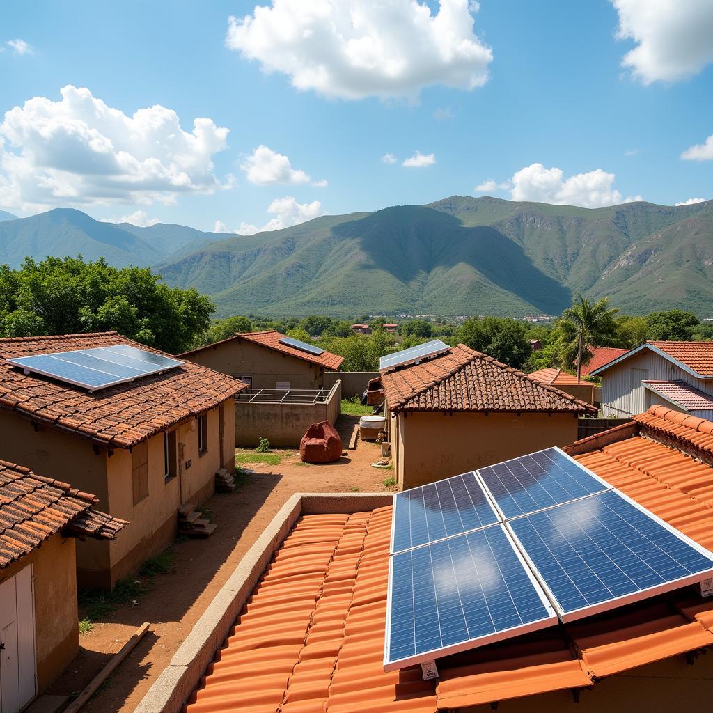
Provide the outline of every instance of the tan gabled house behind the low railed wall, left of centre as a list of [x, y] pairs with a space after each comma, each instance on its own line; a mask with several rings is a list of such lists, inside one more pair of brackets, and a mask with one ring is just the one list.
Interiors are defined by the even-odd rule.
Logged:
[[285, 334], [245, 332], [180, 354], [195, 364], [244, 381], [251, 389], [322, 389], [324, 372], [337, 371], [342, 356], [311, 354], [281, 340]]

